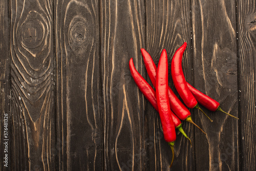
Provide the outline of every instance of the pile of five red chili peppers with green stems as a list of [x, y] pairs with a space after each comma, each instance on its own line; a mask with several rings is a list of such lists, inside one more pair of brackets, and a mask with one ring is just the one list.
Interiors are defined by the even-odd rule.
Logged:
[[[220, 108], [219, 102], [198, 91], [186, 82], [182, 71], [182, 56], [186, 45], [186, 42], [184, 42], [184, 44], [175, 52], [171, 66], [174, 86], [185, 105], [190, 109], [195, 108], [203, 112], [199, 108], [198, 103], [200, 103], [210, 111], [221, 111], [231, 117], [238, 119], [237, 117], [224, 112]], [[168, 86], [168, 61], [166, 50], [164, 49], [161, 53], [158, 67], [156, 67], [150, 54], [148, 54], [144, 49], [141, 49], [141, 54], [143, 56], [147, 74], [150, 77], [153, 86], [156, 88], [156, 91], [135, 69], [133, 58], [131, 58], [129, 62], [130, 71], [139, 90], [153, 105], [156, 111], [159, 112], [164, 139], [172, 148], [173, 158], [169, 166], [171, 167], [174, 161], [174, 142], [176, 140], [175, 129], [179, 130], [191, 144], [190, 139], [182, 129], [181, 120], [193, 123], [199, 129], [200, 127], [193, 122], [189, 110]], [[200, 130], [206, 134], [202, 129]]]

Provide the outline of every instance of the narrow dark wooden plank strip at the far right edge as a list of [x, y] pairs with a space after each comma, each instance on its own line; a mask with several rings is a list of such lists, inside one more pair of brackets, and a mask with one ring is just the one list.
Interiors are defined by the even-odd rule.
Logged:
[[256, 169], [256, 6], [237, 1], [239, 46], [239, 108], [241, 118], [241, 170]]

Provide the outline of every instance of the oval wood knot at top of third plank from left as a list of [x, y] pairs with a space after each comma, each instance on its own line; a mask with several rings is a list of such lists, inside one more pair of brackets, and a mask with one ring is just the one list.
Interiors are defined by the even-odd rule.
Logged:
[[[87, 58], [93, 49], [97, 47], [98, 41], [95, 40], [98, 31], [98, 22], [93, 11], [87, 3], [80, 1], [70, 1], [66, 9], [64, 33], [67, 38], [64, 40], [68, 50], [71, 52], [70, 62], [83, 65], [82, 58]], [[71, 57], [72, 56], [72, 57]]]

